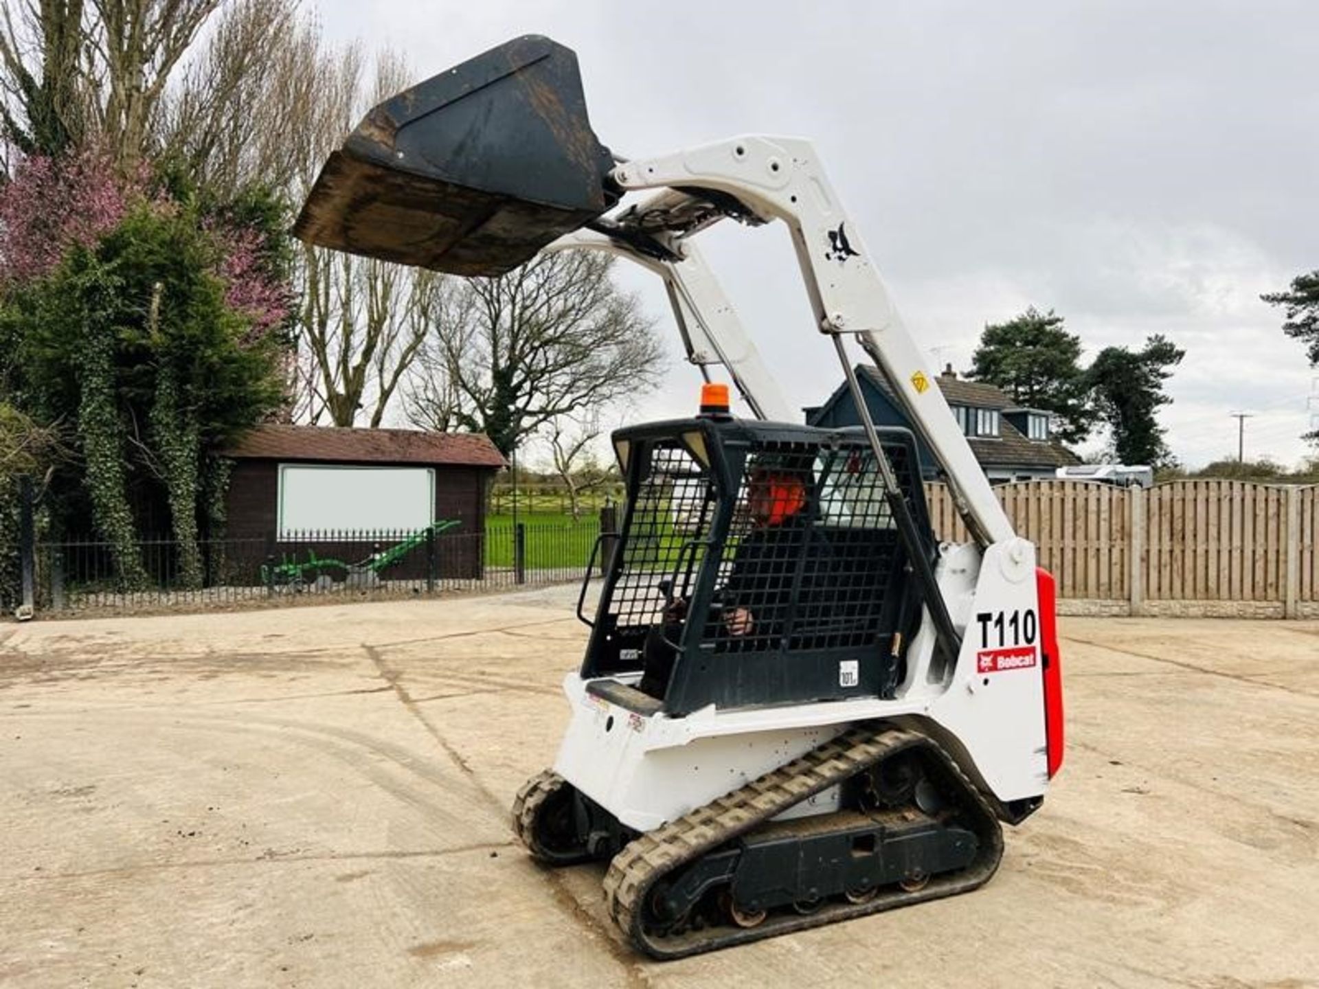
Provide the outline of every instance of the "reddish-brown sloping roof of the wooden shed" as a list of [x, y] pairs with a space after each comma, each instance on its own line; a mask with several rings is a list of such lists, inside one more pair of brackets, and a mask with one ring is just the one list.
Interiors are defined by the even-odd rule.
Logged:
[[503, 455], [483, 433], [334, 426], [257, 426], [226, 450], [224, 455], [235, 460], [504, 467]]

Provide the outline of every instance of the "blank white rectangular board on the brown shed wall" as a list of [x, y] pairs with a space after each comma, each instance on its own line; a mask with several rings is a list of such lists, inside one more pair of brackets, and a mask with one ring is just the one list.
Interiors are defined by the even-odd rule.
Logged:
[[435, 521], [430, 467], [280, 464], [280, 538], [415, 531]]

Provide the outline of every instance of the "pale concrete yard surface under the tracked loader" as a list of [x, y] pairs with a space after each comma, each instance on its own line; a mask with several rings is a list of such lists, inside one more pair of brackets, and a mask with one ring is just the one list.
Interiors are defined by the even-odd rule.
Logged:
[[988, 886], [658, 964], [509, 832], [575, 595], [0, 625], [0, 984], [1319, 986], [1319, 622], [1064, 618]]

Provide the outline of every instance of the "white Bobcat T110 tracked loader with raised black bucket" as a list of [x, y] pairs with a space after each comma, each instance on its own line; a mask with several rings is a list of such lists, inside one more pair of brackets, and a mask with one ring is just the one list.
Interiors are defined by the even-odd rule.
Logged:
[[[787, 225], [861, 425], [790, 406], [695, 239]], [[522, 37], [376, 107], [332, 154], [305, 240], [462, 276], [541, 251], [658, 274], [707, 384], [691, 418], [613, 435], [621, 531], [571, 723], [513, 824], [547, 866], [608, 861], [611, 916], [667, 959], [966, 893], [1063, 754], [1054, 582], [1017, 537], [809, 141], [748, 135], [627, 161], [576, 58]], [[877, 427], [860, 347], [913, 429]], [[729, 414], [727, 376], [749, 410]], [[971, 533], [938, 542], [921, 459]], [[588, 567], [590, 572], [590, 567]]]

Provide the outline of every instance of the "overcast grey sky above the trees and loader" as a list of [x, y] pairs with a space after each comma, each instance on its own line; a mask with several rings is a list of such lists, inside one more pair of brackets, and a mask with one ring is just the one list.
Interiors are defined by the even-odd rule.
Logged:
[[[1054, 309], [1087, 355], [1162, 332], [1186, 348], [1174, 452], [1294, 462], [1319, 371], [1260, 302], [1319, 268], [1319, 3], [321, 0], [326, 34], [418, 78], [516, 34], [578, 51], [592, 124], [627, 156], [736, 133], [815, 141], [931, 363], [963, 371], [985, 322]], [[706, 253], [797, 405], [839, 381], [781, 229]], [[674, 352], [629, 418], [686, 414]], [[1319, 398], [1314, 402], [1319, 413]]]

